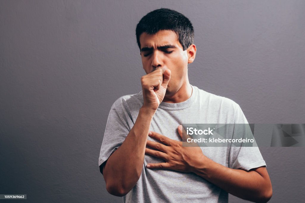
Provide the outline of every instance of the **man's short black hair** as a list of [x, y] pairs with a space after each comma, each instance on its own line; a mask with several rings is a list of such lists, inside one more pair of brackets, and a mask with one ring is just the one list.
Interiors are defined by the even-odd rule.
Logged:
[[142, 33], [155, 34], [159, 30], [173, 30], [178, 36], [183, 51], [194, 43], [194, 28], [191, 21], [177, 11], [162, 8], [147, 13], [139, 21], [135, 34], [140, 51], [140, 35]]

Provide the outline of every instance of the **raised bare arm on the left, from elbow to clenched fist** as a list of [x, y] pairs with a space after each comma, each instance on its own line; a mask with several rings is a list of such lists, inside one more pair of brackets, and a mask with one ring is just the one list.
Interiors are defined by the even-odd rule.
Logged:
[[142, 173], [145, 146], [152, 117], [164, 98], [170, 70], [157, 69], [141, 79], [144, 103], [133, 128], [122, 145], [102, 165], [106, 189], [124, 196], [137, 183]]

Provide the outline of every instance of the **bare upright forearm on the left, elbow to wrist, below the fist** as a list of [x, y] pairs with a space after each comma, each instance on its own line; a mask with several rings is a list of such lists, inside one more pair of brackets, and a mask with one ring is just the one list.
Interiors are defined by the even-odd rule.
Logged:
[[109, 157], [103, 169], [107, 191], [127, 194], [137, 183], [143, 168], [145, 146], [154, 111], [141, 108], [122, 145]]

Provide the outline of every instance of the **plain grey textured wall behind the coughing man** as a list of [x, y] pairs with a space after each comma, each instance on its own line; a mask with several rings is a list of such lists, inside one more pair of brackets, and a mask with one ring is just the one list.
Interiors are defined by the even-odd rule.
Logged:
[[[194, 25], [191, 84], [239, 103], [250, 123], [305, 123], [304, 1], [2, 0], [0, 194], [121, 202], [99, 150], [112, 103], [141, 90], [135, 26], [161, 7]], [[261, 152], [271, 202], [303, 201], [305, 149]]]

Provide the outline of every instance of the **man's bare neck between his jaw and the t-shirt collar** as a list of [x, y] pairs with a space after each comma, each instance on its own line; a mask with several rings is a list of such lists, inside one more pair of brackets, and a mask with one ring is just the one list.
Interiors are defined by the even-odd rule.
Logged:
[[163, 102], [166, 103], [180, 103], [188, 100], [192, 95], [192, 86], [188, 81], [183, 84], [180, 89], [174, 94], [167, 92], [164, 96]]

